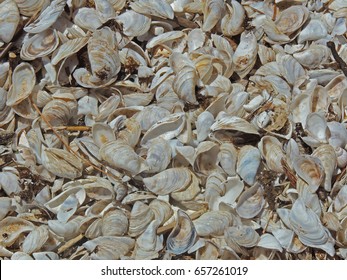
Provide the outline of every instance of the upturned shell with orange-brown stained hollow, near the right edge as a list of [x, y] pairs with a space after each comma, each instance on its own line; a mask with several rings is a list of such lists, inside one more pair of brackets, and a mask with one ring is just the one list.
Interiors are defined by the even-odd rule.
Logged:
[[293, 168], [298, 176], [310, 186], [312, 192], [315, 192], [324, 180], [324, 167], [321, 160], [316, 157], [297, 156], [294, 159]]

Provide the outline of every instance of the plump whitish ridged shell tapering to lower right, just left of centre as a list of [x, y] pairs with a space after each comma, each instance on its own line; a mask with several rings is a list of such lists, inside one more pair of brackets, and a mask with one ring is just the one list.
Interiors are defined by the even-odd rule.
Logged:
[[144, 159], [121, 140], [104, 144], [99, 154], [112, 167], [124, 169], [131, 174], [138, 174], [147, 169]]

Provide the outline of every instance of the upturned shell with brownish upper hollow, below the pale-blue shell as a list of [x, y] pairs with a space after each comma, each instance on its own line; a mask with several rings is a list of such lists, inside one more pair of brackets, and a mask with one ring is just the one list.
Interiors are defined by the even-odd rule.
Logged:
[[251, 219], [257, 216], [264, 206], [263, 187], [260, 184], [255, 184], [240, 195], [236, 205], [236, 212], [242, 218]]

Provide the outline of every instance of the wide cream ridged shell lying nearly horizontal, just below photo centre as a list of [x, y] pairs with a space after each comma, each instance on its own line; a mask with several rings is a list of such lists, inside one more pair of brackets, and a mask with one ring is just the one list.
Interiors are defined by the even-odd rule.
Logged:
[[188, 168], [169, 168], [152, 177], [143, 179], [146, 188], [158, 195], [184, 190], [192, 180]]

